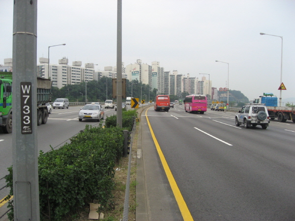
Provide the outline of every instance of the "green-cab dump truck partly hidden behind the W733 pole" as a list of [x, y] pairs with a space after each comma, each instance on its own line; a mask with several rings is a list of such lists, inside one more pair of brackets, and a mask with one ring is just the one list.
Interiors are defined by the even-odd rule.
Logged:
[[[52, 81], [37, 77], [37, 125], [46, 124], [51, 102]], [[12, 133], [12, 72], [0, 72], [0, 126], [6, 134]]]

